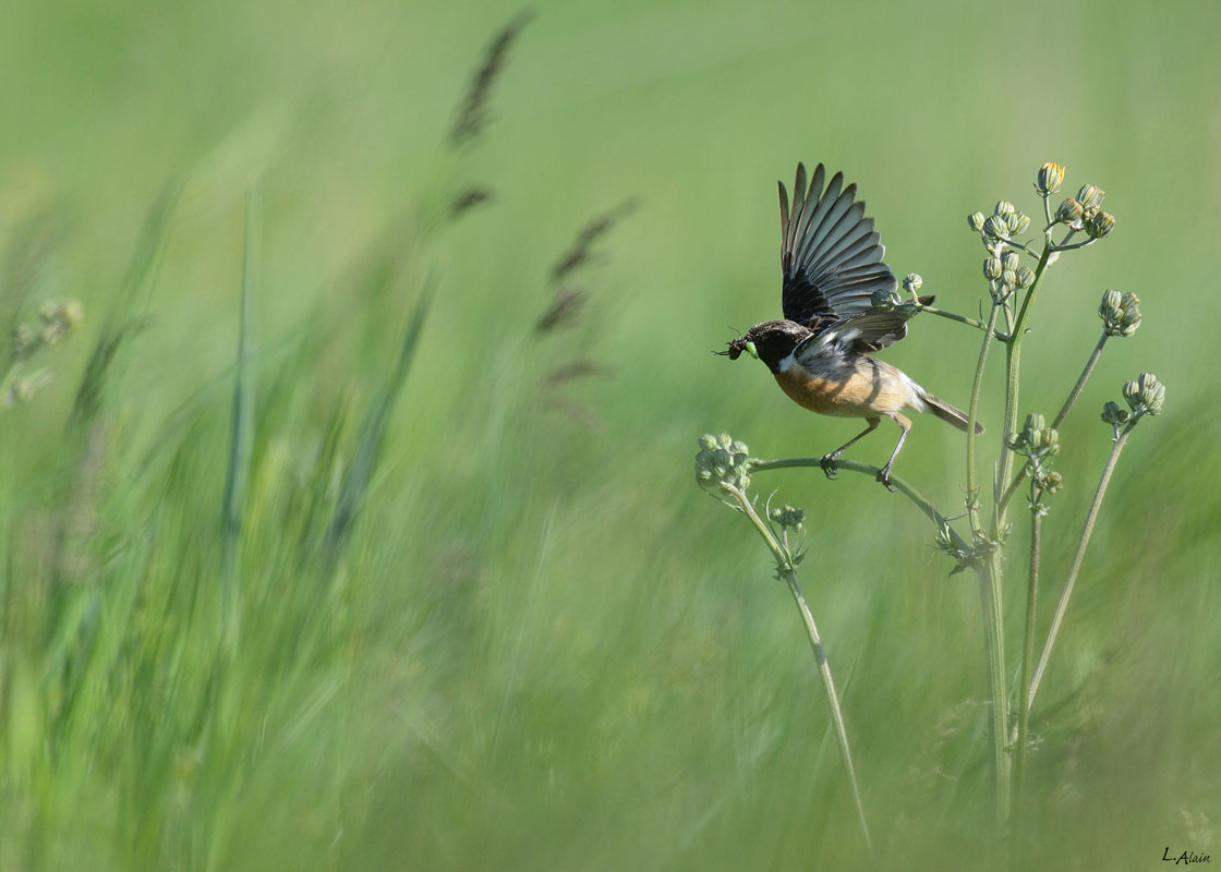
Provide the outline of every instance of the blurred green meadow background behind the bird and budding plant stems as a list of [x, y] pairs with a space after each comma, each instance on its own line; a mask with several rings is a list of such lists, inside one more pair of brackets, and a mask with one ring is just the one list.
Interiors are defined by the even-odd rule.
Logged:
[[[51, 382], [0, 415], [0, 867], [873, 867], [791, 601], [692, 478], [701, 432], [775, 458], [857, 427], [708, 353], [779, 314], [774, 184], [797, 160], [856, 181], [895, 272], [966, 314], [984, 292], [968, 211], [1037, 214], [1045, 160], [1066, 189], [1109, 192], [1116, 232], [1051, 270], [1026, 344], [1021, 410], [1054, 413], [1101, 291], [1142, 298], [1143, 327], [1111, 342], [1061, 435], [1040, 627], [1110, 447], [1095, 410], [1142, 370], [1168, 393], [1121, 462], [1034, 711], [1031, 862], [1142, 870], [1216, 848], [1221, 7], [535, 11], [491, 123], [455, 153], [454, 107], [513, 6], [0, 10], [4, 311], [85, 310], [35, 362]], [[473, 186], [492, 199], [438, 217]], [[227, 574], [252, 187], [253, 443]], [[565, 282], [586, 294], [575, 321], [536, 331], [552, 265], [630, 199]], [[142, 255], [159, 236], [160, 259]], [[337, 545], [365, 421], [429, 293]], [[115, 336], [109, 366], [90, 363]], [[926, 316], [885, 357], [963, 404], [977, 348]], [[851, 456], [880, 462], [884, 432]], [[952, 513], [962, 452], [921, 418], [897, 471]], [[984, 867], [974, 583], [862, 476], [756, 486], [807, 512], [802, 581], [878, 867]]]

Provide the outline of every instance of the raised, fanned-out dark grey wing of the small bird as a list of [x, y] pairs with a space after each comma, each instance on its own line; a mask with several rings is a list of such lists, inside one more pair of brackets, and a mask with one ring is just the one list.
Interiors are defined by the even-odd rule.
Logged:
[[[784, 316], [816, 331], [869, 310], [875, 291], [899, 287], [895, 274], [882, 261], [886, 249], [873, 230], [873, 219], [864, 216], [863, 202], [855, 202], [856, 186], [845, 188], [844, 173], [836, 172], [823, 189], [825, 177], [819, 164], [807, 186], [806, 167], [797, 164], [791, 211], [780, 182]], [[897, 342], [905, 332], [883, 344]]]

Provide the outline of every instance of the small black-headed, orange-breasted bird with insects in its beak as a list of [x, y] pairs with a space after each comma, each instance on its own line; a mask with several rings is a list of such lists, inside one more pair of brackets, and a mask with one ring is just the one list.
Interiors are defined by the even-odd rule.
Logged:
[[[829, 478], [845, 448], [875, 430], [883, 416], [895, 421], [902, 432], [886, 465], [878, 470], [878, 481], [895, 490], [890, 470], [911, 430], [904, 409], [932, 412], [962, 431], [967, 416], [901, 370], [871, 357], [907, 335], [904, 315], [913, 313], [891, 303], [899, 283], [882, 260], [885, 248], [873, 219], [864, 216], [864, 203], [856, 202], [856, 186], [845, 188], [841, 172], [824, 188], [825, 180], [819, 164], [807, 186], [806, 167], [797, 164], [791, 210], [780, 182], [784, 320], [756, 324], [717, 353], [736, 360], [746, 352], [762, 360], [781, 390], [811, 412], [864, 419], [868, 426], [862, 432], [823, 456]], [[918, 300], [930, 305], [933, 297]], [[976, 424], [976, 432], [983, 431]]]

